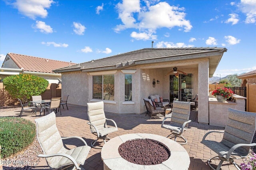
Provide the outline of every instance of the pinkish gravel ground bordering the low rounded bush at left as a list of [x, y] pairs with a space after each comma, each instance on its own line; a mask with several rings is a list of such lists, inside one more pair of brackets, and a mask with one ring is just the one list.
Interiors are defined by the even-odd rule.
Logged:
[[[1, 111], [12, 111], [20, 109], [20, 107], [0, 107], [0, 109]], [[35, 138], [32, 144], [22, 152], [9, 158], [2, 158], [0, 163], [3, 170], [30, 170], [42, 160], [38, 157], [38, 154], [43, 154], [43, 151]]]

